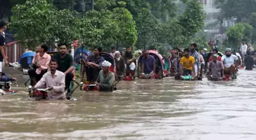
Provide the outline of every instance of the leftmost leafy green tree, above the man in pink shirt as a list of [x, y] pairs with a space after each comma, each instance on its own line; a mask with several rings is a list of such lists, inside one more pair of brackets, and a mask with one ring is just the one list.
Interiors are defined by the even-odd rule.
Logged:
[[70, 11], [57, 11], [48, 0], [27, 0], [14, 6], [10, 27], [16, 32], [15, 39], [35, 48], [43, 42], [71, 42], [77, 36], [75, 25]]

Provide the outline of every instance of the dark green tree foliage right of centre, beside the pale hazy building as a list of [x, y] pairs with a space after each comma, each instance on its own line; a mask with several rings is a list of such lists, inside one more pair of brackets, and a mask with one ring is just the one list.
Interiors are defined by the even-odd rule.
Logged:
[[186, 8], [183, 14], [171, 20], [164, 28], [165, 40], [172, 47], [182, 47], [194, 39], [196, 33], [203, 29], [203, 8], [197, 0], [183, 1]]

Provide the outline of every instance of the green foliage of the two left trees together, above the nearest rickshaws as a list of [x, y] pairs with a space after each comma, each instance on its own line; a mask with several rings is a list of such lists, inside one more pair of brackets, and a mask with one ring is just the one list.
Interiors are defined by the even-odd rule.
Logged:
[[111, 2], [98, 0], [96, 6], [102, 8], [100, 11], [88, 11], [78, 18], [75, 11], [58, 11], [48, 0], [28, 0], [14, 7], [11, 29], [17, 31], [16, 39], [29, 48], [43, 42], [71, 43], [73, 39], [80, 39], [89, 47], [103, 46], [105, 49], [117, 42], [133, 46], [137, 40], [133, 16], [126, 8], [107, 10]]

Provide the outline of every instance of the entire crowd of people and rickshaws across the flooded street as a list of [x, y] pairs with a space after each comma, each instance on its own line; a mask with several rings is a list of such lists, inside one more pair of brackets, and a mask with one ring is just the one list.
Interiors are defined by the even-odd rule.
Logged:
[[[8, 58], [5, 55], [5, 35], [6, 23], [0, 23], [0, 73], [2, 73], [2, 61], [8, 64]], [[78, 46], [78, 40], [76, 43]], [[178, 48], [171, 51], [171, 69], [169, 76], [174, 76], [175, 79], [202, 79], [203, 73], [210, 80], [236, 79], [238, 66], [243, 62], [247, 70], [251, 70], [255, 57], [251, 56], [253, 48], [251, 45], [246, 45], [242, 42], [238, 52], [231, 48], [226, 48], [223, 56], [219, 54], [219, 46], [215, 45], [213, 40], [209, 42], [210, 52], [207, 48], [203, 48], [200, 52], [197, 49], [197, 44], [193, 43], [190, 48], [180, 50]], [[75, 46], [75, 45], [71, 45]], [[48, 46], [46, 44], [39, 45], [36, 49], [32, 67], [28, 70], [31, 79], [32, 89], [48, 88], [48, 99], [61, 100], [66, 99], [66, 93], [70, 91], [70, 84], [74, 78], [74, 60], [69, 54], [69, 45], [62, 43], [58, 45], [59, 52], [50, 56], [47, 54]], [[158, 58], [155, 58], [153, 53]], [[82, 59], [81, 82], [84, 82], [84, 76], [89, 82], [89, 85], [98, 86], [99, 91], [113, 92], [114, 81], [122, 80], [130, 77], [135, 79], [136, 72], [139, 72], [137, 77], [142, 79], [162, 79], [164, 73], [161, 64], [164, 63], [164, 58], [155, 48], [151, 50], [133, 51], [130, 47], [126, 51], [117, 51], [115, 47], [111, 48], [110, 55], [114, 58], [115, 67], [111, 70], [113, 64], [106, 61], [102, 54], [101, 47], [95, 47], [93, 54], [88, 58]], [[160, 65], [159, 65], [160, 64]], [[185, 78], [186, 77], [186, 78]], [[1, 78], [1, 75], [0, 75]], [[14, 79], [12, 79], [14, 80]]]

